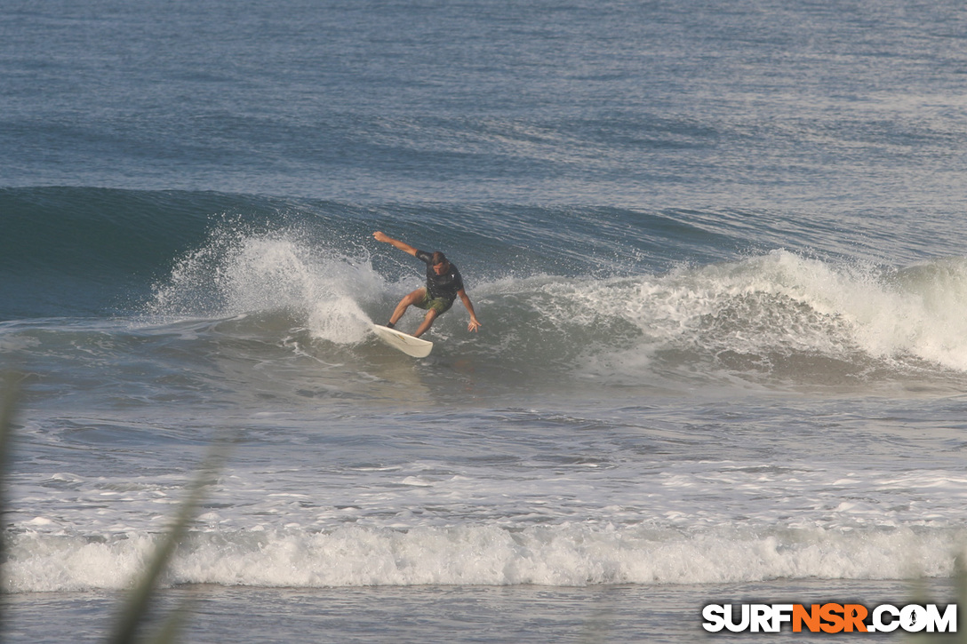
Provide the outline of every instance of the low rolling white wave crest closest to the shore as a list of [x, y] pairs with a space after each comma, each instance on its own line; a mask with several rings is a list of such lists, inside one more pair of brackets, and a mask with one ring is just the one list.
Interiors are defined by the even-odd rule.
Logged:
[[[762, 527], [682, 533], [580, 524], [196, 533], [182, 544], [165, 582], [585, 586], [948, 576], [965, 539], [962, 530]], [[105, 542], [17, 535], [10, 549], [8, 588], [18, 593], [124, 588], [154, 544], [154, 538], [143, 535]]]

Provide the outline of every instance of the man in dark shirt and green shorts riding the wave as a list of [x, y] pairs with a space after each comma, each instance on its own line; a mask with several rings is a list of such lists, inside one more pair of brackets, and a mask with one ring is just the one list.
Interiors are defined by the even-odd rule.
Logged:
[[399, 304], [396, 305], [396, 310], [390, 316], [389, 324], [386, 326], [393, 329], [396, 322], [399, 321], [399, 318], [403, 316], [403, 313], [406, 312], [406, 309], [410, 305], [424, 308], [426, 316], [423, 324], [413, 334], [414, 337], [420, 337], [430, 328], [433, 320], [439, 315], [446, 313], [450, 307], [454, 306], [454, 300], [460, 298], [460, 302], [470, 312], [470, 324], [467, 325], [467, 331], [476, 332], [481, 328], [480, 320], [477, 319], [477, 313], [474, 312], [474, 306], [470, 303], [470, 298], [463, 289], [463, 278], [460, 277], [460, 272], [456, 270], [456, 266], [451, 264], [442, 252], [439, 250], [426, 252], [425, 250], [414, 249], [406, 242], [400, 242], [398, 239], [393, 239], [378, 230], [372, 236], [377, 242], [383, 242], [403, 252], [407, 252], [426, 264], [426, 285], [418, 288], [399, 301]]

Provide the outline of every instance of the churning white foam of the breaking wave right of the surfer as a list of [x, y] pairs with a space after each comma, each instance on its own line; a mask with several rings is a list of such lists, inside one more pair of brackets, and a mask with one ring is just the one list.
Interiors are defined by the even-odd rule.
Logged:
[[[597, 377], [639, 379], [660, 355], [686, 369], [838, 382], [875, 368], [967, 371], [965, 284], [962, 261], [895, 272], [775, 250], [666, 276], [536, 286], [557, 299], [543, 308], [555, 324], [610, 334], [584, 357]], [[636, 339], [622, 341], [630, 328]]]

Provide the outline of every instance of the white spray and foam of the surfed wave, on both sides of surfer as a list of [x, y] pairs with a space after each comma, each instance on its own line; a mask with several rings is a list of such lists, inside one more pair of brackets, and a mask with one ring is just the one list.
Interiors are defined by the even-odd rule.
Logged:
[[[299, 227], [223, 223], [156, 286], [149, 308], [285, 312], [311, 337], [353, 346], [366, 339], [370, 312], [392, 306], [395, 288], [365, 251], [330, 249]], [[806, 382], [882, 368], [967, 371], [962, 260], [896, 271], [777, 249], [667, 275], [500, 278], [476, 284], [474, 298], [483, 298], [479, 312], [493, 335], [471, 351], [503, 365], [566, 364], [606, 381], [638, 382], [652, 369]], [[434, 333], [455, 335], [456, 318]]]

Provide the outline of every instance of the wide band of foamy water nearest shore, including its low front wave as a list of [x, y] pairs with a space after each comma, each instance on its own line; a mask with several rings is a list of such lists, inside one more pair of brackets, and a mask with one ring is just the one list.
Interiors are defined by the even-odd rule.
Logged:
[[[425, 458], [346, 468], [338, 463], [358, 454], [344, 450], [312, 468], [308, 463], [327, 456], [308, 450], [308, 459], [290, 454], [268, 471], [229, 469], [206, 495], [209, 504], [165, 583], [583, 586], [943, 577], [967, 545], [960, 526], [967, 478], [930, 463], [910, 459], [891, 472], [866, 466], [871, 454], [864, 463], [846, 454], [839, 466], [829, 454], [781, 467], [689, 460], [684, 453], [663, 462], [646, 455], [650, 443], [638, 428], [609, 439], [593, 427], [551, 429], [556, 451], [538, 450], [544, 437], [532, 429], [531, 438], [514, 444], [519, 457], [505, 464]], [[584, 438], [572, 436], [575, 430]], [[495, 425], [481, 444], [472, 433], [447, 435], [463, 449], [499, 454], [522, 431], [501, 433]], [[771, 432], [745, 433], [727, 439], [715, 432], [718, 451], [747, 450], [735, 444], [758, 444]], [[380, 442], [389, 441], [388, 451], [412, 442], [427, 454], [448, 443], [434, 435], [411, 431]], [[668, 446], [685, 436], [654, 435]], [[785, 454], [803, 445], [795, 436], [769, 442]], [[274, 452], [263, 446], [256, 460], [271, 463]], [[126, 587], [184, 483], [174, 476], [28, 479], [18, 477], [13, 489], [5, 571], [14, 592]]]

